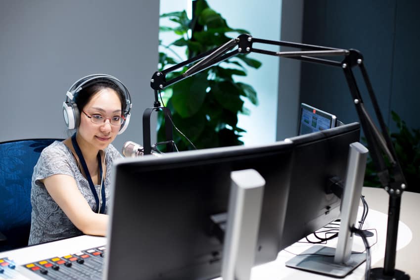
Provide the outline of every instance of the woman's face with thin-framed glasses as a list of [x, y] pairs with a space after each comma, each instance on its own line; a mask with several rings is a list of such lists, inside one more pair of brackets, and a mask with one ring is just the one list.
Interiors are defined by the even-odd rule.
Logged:
[[95, 93], [80, 112], [78, 134], [97, 149], [104, 149], [118, 135], [121, 125], [111, 125], [110, 120], [96, 124], [87, 115], [101, 115], [104, 118], [121, 116], [121, 101], [118, 93], [105, 88]]

